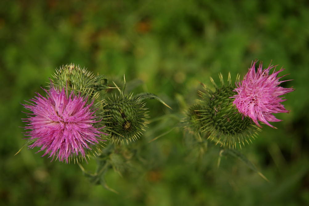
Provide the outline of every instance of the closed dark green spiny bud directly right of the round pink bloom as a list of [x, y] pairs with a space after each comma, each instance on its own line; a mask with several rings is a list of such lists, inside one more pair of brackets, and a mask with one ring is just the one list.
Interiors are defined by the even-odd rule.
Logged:
[[109, 133], [109, 138], [112, 142], [134, 141], [142, 134], [146, 124], [145, 103], [139, 98], [132, 96], [119, 95], [112, 97], [104, 109], [108, 120], [106, 128]]

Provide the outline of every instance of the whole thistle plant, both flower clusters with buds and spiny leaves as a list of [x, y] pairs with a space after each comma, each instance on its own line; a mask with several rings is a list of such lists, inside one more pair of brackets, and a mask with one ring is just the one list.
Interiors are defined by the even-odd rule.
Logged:
[[[245, 145], [245, 142], [249, 144], [251, 138], [261, 131], [260, 122], [273, 127], [269, 122], [280, 121], [273, 114], [289, 112], [281, 104], [285, 100], [280, 96], [294, 89], [279, 86], [285, 82], [277, 77], [282, 68], [275, 71], [276, 66], [269, 65], [263, 70], [260, 63], [256, 72], [255, 64], [256, 61], [253, 61], [242, 81], [237, 75], [236, 85], [231, 81], [230, 74], [227, 84], [222, 74], [219, 74], [220, 86], [210, 78], [214, 90], [201, 83], [204, 87], [203, 91], [199, 91], [201, 99], [188, 107], [182, 122], [185, 131], [190, 132], [190, 138], [200, 143], [201, 153], [207, 151], [208, 139], [214, 140], [223, 148], [220, 156], [229, 154], [237, 157], [258, 172], [234, 148], [236, 145]], [[269, 74], [272, 68], [274, 71]], [[116, 87], [108, 86], [105, 75], [93, 75], [74, 64], [57, 69], [53, 77], [49, 89], [45, 89], [46, 96], [37, 93], [35, 98], [23, 104], [31, 113], [27, 113], [28, 118], [24, 119], [27, 123], [25, 136], [28, 138], [21, 149], [26, 146], [39, 147], [39, 151], [44, 152], [42, 156], [48, 155], [66, 163], [77, 160], [83, 174], [91, 182], [114, 191], [104, 179], [107, 171], [114, 169], [121, 175], [121, 172], [131, 167], [131, 161], [141, 159], [134, 144], [130, 143], [142, 137], [142, 131], [148, 124], [143, 100], [156, 99], [168, 105], [152, 93], [127, 94], [125, 78], [120, 90], [115, 83]], [[137, 84], [140, 81], [132, 83], [130, 88]], [[108, 97], [108, 89], [112, 88], [117, 88], [119, 94]], [[105, 94], [101, 90], [105, 90]], [[176, 119], [178, 122], [175, 127], [179, 125], [177, 116]], [[80, 160], [86, 158], [96, 160], [97, 169], [94, 173], [86, 172], [80, 164]]]

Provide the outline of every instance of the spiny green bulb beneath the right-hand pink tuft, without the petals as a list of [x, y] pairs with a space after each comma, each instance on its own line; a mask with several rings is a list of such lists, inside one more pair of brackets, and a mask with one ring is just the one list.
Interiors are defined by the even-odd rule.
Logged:
[[[218, 87], [214, 80], [210, 78], [215, 90], [212, 91], [204, 85], [206, 93], [200, 91], [200, 96], [204, 99], [199, 101], [202, 109], [198, 110], [202, 130], [209, 133], [209, 137], [217, 138], [223, 146], [231, 145], [236, 147], [236, 143], [246, 141], [250, 137], [256, 137], [256, 132], [260, 129], [256, 124], [252, 124], [250, 118], [243, 117], [235, 106], [233, 106], [233, 98], [235, 95], [234, 87], [231, 82], [231, 74], [228, 76], [228, 84], [225, 85], [222, 74], [219, 74], [221, 87]], [[236, 82], [239, 82], [237, 75]], [[199, 123], [200, 124], [200, 123]], [[241, 146], [241, 145], [240, 145]]]

